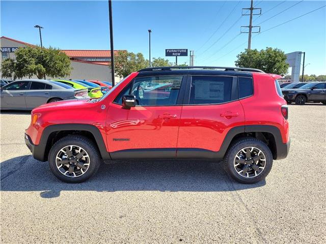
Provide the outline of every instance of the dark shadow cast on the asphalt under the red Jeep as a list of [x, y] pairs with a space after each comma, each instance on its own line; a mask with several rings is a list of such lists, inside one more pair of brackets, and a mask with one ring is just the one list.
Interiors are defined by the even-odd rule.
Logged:
[[119, 161], [102, 164], [96, 175], [80, 184], [57, 179], [48, 163], [21, 156], [0, 163], [1, 191], [40, 191], [42, 198], [55, 198], [61, 191], [161, 191], [226, 192], [262, 187], [231, 180], [221, 163], [212, 161]]

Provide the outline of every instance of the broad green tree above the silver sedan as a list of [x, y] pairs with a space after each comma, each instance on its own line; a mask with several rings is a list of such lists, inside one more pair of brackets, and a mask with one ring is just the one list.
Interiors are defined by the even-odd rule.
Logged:
[[42, 79], [48, 77], [65, 77], [70, 75], [69, 57], [59, 49], [49, 47], [20, 47], [15, 51], [16, 60], [3, 61], [3, 77], [22, 78], [36, 75]]

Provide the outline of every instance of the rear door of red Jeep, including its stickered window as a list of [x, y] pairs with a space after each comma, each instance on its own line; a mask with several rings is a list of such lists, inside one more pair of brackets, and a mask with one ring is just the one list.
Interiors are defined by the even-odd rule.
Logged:
[[189, 102], [182, 108], [177, 158], [213, 158], [228, 131], [244, 125], [236, 79], [193, 76], [189, 81]]

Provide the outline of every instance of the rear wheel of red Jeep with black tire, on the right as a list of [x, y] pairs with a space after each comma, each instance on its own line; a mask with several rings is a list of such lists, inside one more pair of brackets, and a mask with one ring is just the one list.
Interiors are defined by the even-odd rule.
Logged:
[[[239, 154], [242, 154], [241, 149], [245, 149], [246, 151], [247, 148], [252, 148], [253, 151], [251, 154], [253, 156], [255, 156], [255, 153], [259, 150], [260, 152], [258, 151], [256, 156], [263, 156], [262, 158], [265, 161], [258, 160], [254, 164], [253, 161], [246, 161], [242, 158], [236, 157]], [[243, 162], [238, 164], [238, 162], [236, 162], [237, 159], [245, 161], [246, 164], [244, 164]], [[238, 166], [236, 166], [236, 164], [238, 164]], [[257, 168], [258, 166], [258, 170], [256, 171], [254, 170], [254, 168], [249, 167], [251, 165], [255, 165], [255, 168]], [[224, 170], [234, 180], [242, 184], [254, 184], [263, 180], [268, 175], [269, 171], [271, 170], [271, 166], [273, 166], [273, 155], [271, 154], [270, 149], [264, 142], [252, 137], [243, 138], [230, 146], [223, 159], [223, 166]], [[250, 174], [247, 172], [248, 174], [245, 173], [245, 176], [243, 176], [243, 172], [246, 171], [246, 168], [249, 169], [247, 170]]]

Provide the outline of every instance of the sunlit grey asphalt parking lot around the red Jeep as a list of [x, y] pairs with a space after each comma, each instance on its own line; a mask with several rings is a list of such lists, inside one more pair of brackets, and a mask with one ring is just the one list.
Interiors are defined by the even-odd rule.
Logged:
[[59, 181], [24, 144], [29, 112], [1, 115], [2, 243], [326, 243], [326, 106], [289, 105], [291, 148], [255, 185], [220, 163], [102, 165]]

